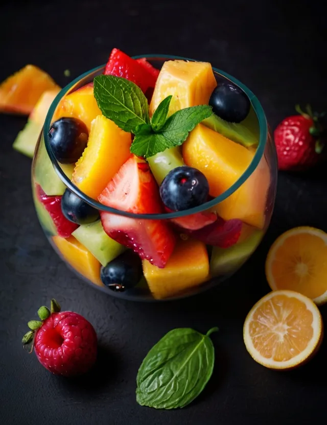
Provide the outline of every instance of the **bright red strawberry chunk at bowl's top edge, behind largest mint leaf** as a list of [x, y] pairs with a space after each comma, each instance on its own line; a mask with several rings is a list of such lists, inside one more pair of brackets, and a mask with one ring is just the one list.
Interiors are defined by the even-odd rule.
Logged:
[[138, 85], [144, 93], [150, 86], [149, 78], [153, 79], [149, 72], [145, 72], [143, 65], [140, 65], [136, 60], [118, 49], [112, 49], [104, 75], [126, 78]]

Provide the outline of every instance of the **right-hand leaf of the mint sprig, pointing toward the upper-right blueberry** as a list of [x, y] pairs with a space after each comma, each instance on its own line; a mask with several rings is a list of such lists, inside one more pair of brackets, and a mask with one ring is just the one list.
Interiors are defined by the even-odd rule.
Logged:
[[[190, 131], [213, 114], [211, 106], [199, 105], [175, 112], [161, 128], [162, 134], [174, 146], [181, 145]], [[168, 146], [167, 146], [168, 147]]]

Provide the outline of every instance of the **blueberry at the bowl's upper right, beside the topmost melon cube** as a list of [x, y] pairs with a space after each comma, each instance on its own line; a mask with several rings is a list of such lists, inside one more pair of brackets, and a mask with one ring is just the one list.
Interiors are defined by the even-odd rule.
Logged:
[[209, 105], [216, 115], [231, 123], [245, 120], [251, 106], [241, 88], [226, 82], [219, 84], [212, 92]]

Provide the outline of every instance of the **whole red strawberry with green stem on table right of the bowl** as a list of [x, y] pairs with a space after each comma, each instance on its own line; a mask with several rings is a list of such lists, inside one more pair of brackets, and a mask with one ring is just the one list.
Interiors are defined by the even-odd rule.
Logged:
[[313, 113], [309, 105], [307, 113], [295, 109], [299, 115], [289, 116], [274, 131], [279, 170], [308, 170], [322, 158], [324, 114]]

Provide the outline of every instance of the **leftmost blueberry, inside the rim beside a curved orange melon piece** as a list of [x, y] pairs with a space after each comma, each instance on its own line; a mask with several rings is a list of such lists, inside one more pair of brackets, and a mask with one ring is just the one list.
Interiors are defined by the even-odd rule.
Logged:
[[49, 130], [53, 153], [62, 164], [76, 162], [86, 148], [87, 139], [87, 127], [77, 118], [60, 118]]

